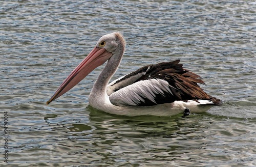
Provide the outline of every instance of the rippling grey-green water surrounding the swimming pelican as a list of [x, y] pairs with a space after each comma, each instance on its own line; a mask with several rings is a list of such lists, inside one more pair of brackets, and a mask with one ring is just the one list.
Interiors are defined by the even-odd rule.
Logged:
[[[8, 165], [256, 166], [255, 11], [254, 1], [1, 1]], [[224, 105], [186, 119], [109, 115], [88, 102], [102, 67], [46, 105], [114, 31], [124, 34], [126, 51], [113, 79], [181, 59]]]

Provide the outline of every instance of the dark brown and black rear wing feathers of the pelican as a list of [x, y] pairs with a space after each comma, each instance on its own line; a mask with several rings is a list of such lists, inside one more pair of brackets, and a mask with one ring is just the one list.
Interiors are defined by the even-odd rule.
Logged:
[[150, 65], [150, 69], [145, 75], [141, 76], [138, 80], [145, 79], [164, 79], [168, 81], [170, 90], [174, 93], [175, 99], [173, 100], [211, 100], [216, 105], [221, 104], [221, 100], [212, 97], [205, 93], [198, 84], [205, 85], [202, 78], [186, 69], [183, 65], [179, 64], [180, 60], [173, 62], [163, 62], [156, 65]]

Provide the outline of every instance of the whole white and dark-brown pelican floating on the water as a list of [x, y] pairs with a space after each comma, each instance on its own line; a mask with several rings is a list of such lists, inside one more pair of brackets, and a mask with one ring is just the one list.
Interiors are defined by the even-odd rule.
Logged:
[[[47, 104], [68, 92], [95, 68], [108, 61], [89, 96], [89, 103], [103, 112], [125, 115], [173, 116], [205, 112], [221, 100], [205, 93], [199, 75], [184, 69], [180, 60], [147, 65], [110, 84], [125, 48], [120, 32], [102, 36], [94, 49], [62, 82]], [[205, 84], [204, 84], [205, 85]]]

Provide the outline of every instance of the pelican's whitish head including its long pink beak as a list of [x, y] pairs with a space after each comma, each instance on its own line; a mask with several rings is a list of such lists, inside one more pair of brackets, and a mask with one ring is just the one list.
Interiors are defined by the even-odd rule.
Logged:
[[68, 92], [95, 68], [108, 61], [119, 50], [124, 50], [125, 41], [121, 33], [115, 32], [102, 36], [94, 49], [62, 82], [47, 104]]

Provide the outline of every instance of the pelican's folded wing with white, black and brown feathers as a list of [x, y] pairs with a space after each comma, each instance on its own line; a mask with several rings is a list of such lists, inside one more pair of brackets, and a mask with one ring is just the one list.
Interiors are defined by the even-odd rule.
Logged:
[[[127, 74], [109, 86], [110, 101], [117, 106], [151, 106], [176, 100], [218, 99], [207, 95], [199, 76], [182, 68], [179, 60], [149, 65]], [[111, 93], [110, 93], [111, 92]]]

